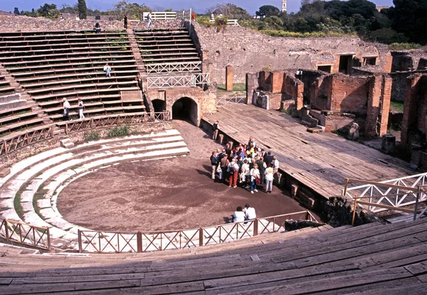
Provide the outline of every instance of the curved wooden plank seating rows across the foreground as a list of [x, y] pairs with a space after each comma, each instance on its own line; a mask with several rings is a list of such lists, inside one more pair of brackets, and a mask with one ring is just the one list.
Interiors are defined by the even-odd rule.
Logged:
[[[427, 220], [188, 250], [2, 257], [1, 294], [425, 294]], [[46, 262], [46, 263], [45, 263]]]

